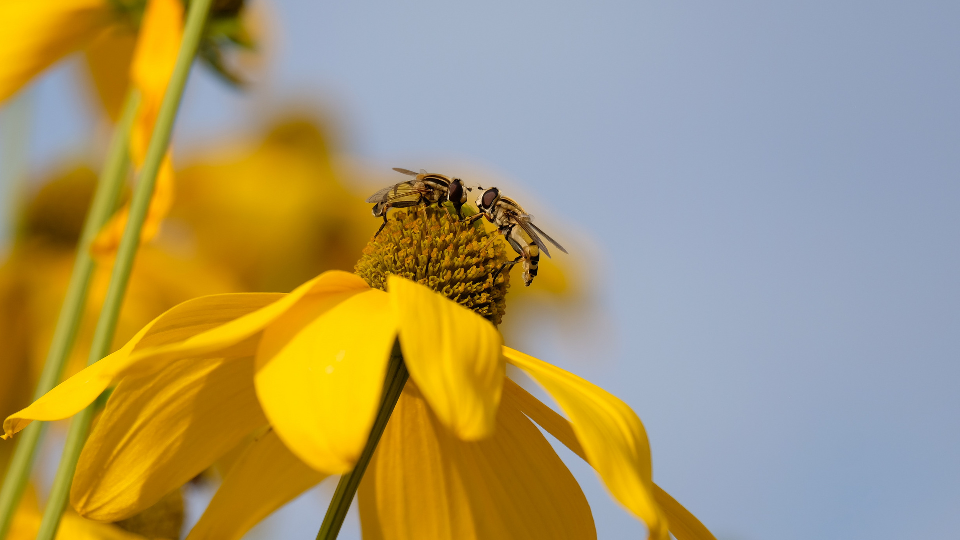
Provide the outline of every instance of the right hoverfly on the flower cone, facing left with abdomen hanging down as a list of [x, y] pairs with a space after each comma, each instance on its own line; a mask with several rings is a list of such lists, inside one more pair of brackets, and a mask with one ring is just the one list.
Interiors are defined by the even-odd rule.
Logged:
[[[481, 189], [483, 189], [481, 187]], [[492, 187], [477, 197], [477, 209], [480, 213], [471, 216], [469, 222], [472, 223], [481, 217], [486, 217], [493, 225], [497, 227], [497, 233], [503, 234], [519, 254], [516, 259], [504, 263], [499, 270], [493, 274], [493, 279], [503, 271], [504, 268], [510, 268], [516, 263], [523, 261], [523, 282], [530, 286], [537, 277], [538, 264], [540, 263], [540, 250], [550, 257], [550, 250], [546, 249], [546, 244], [540, 239], [540, 236], [546, 238], [548, 242], [557, 246], [557, 249], [566, 253], [564, 246], [557, 243], [547, 233], [540, 231], [534, 225], [534, 216], [528, 214], [522, 207], [516, 204], [513, 199], [508, 199], [500, 194], [500, 190]]]

